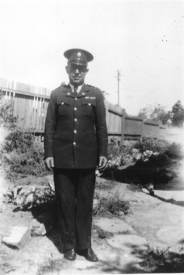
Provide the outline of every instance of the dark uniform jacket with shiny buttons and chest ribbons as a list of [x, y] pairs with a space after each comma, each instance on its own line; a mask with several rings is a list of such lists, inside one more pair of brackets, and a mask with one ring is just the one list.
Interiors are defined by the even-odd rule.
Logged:
[[51, 93], [45, 124], [45, 157], [55, 168], [87, 169], [107, 155], [107, 129], [102, 92], [83, 84], [75, 97], [70, 85]]

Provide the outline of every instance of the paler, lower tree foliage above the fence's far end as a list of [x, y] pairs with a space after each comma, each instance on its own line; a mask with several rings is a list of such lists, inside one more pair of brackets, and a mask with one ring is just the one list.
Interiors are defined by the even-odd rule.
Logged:
[[148, 107], [140, 109], [138, 116], [144, 116], [147, 120], [160, 120], [162, 124], [166, 124], [167, 121], [171, 118], [171, 113], [170, 111], [166, 112], [165, 107], [158, 104], [155, 106], [149, 105]]

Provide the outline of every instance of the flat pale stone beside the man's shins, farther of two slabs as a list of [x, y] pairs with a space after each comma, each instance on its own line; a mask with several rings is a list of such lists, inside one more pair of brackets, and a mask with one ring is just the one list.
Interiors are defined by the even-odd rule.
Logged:
[[103, 230], [106, 230], [108, 232], [112, 233], [130, 233], [130, 234], [136, 234], [135, 230], [131, 227], [131, 225], [128, 225], [124, 221], [113, 218], [101, 218], [99, 220], [94, 219], [93, 223], [95, 225], [100, 226]]

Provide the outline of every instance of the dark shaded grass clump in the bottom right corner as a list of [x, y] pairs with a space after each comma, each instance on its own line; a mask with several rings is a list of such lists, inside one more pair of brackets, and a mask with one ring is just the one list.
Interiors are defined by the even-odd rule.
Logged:
[[178, 252], [166, 250], [151, 250], [144, 255], [144, 261], [140, 266], [151, 273], [183, 273], [184, 272], [184, 248]]

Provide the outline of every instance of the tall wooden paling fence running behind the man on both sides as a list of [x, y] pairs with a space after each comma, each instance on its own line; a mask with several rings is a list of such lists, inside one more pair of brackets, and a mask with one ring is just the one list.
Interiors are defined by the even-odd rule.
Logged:
[[[10, 105], [10, 113], [18, 117], [18, 126], [32, 128], [35, 135], [44, 136], [45, 119], [51, 90], [0, 78], [3, 92], [0, 104]], [[130, 116], [125, 109], [105, 100], [108, 138], [119, 143], [137, 140], [141, 136], [159, 138], [167, 136], [167, 125], [146, 121], [144, 116]]]

